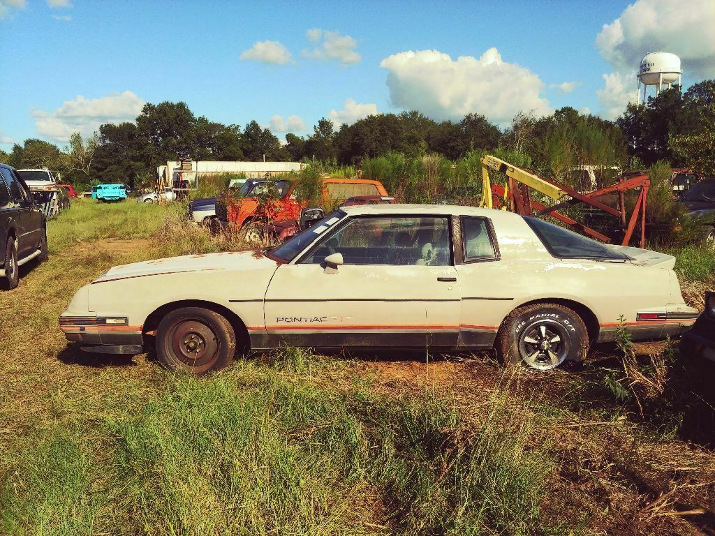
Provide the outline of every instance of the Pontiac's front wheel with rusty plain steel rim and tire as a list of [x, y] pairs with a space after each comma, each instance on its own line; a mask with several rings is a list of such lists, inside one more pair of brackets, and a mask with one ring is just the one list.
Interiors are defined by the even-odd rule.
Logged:
[[157, 357], [170, 370], [201, 376], [230, 364], [236, 334], [222, 315], [202, 307], [169, 312], [157, 328]]

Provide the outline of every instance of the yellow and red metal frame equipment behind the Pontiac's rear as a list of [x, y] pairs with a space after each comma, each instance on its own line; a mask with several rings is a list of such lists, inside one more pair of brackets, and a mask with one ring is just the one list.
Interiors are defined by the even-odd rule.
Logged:
[[[492, 183], [489, 177], [490, 169], [506, 174], [506, 184], [502, 186], [501, 184]], [[488, 154], [482, 159], [482, 182], [481, 207], [509, 209], [512, 212], [528, 216], [544, 216], [548, 214], [593, 238], [610, 243], [611, 237], [607, 237], [605, 234], [557, 212], [559, 209], [583, 203], [591, 207], [591, 209], [597, 209], [618, 218], [618, 225], [623, 232], [621, 241], [623, 246], [627, 246], [631, 242], [631, 237], [633, 237], [633, 232], [640, 217], [640, 247], [643, 248], [646, 244], [646, 198], [651, 185], [648, 174], [641, 172], [624, 173], [618, 177], [615, 184], [582, 194], [567, 187], [565, 184], [543, 179], [536, 174], [527, 172]], [[542, 198], [547, 197], [557, 203], [546, 206], [533, 199], [531, 190], [541, 194]], [[639, 190], [638, 199], [630, 216], [626, 214], [625, 202], [625, 194], [628, 190]], [[609, 194], [618, 194], [617, 208], [611, 207], [600, 200]]]

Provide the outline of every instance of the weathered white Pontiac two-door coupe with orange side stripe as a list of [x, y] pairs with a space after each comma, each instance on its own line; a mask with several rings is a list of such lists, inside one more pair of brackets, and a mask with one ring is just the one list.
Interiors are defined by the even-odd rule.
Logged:
[[77, 291], [59, 324], [91, 352], [156, 347], [203, 374], [286, 344], [495, 348], [551, 369], [623, 325], [663, 339], [698, 312], [674, 257], [606, 246], [511, 212], [343, 207], [280, 247], [117, 266]]

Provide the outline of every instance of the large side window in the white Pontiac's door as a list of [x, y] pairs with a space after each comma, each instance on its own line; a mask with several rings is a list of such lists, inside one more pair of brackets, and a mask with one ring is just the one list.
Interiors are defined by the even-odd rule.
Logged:
[[323, 239], [302, 262], [318, 264], [340, 253], [343, 264], [448, 266], [449, 246], [447, 217], [358, 217]]

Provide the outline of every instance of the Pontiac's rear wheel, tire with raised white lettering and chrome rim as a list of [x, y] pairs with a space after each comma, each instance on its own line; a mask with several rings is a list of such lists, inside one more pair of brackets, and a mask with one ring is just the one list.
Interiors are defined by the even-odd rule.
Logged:
[[523, 363], [538, 370], [565, 361], [583, 361], [588, 331], [581, 317], [553, 303], [526, 305], [509, 314], [499, 328], [494, 347], [504, 364]]

